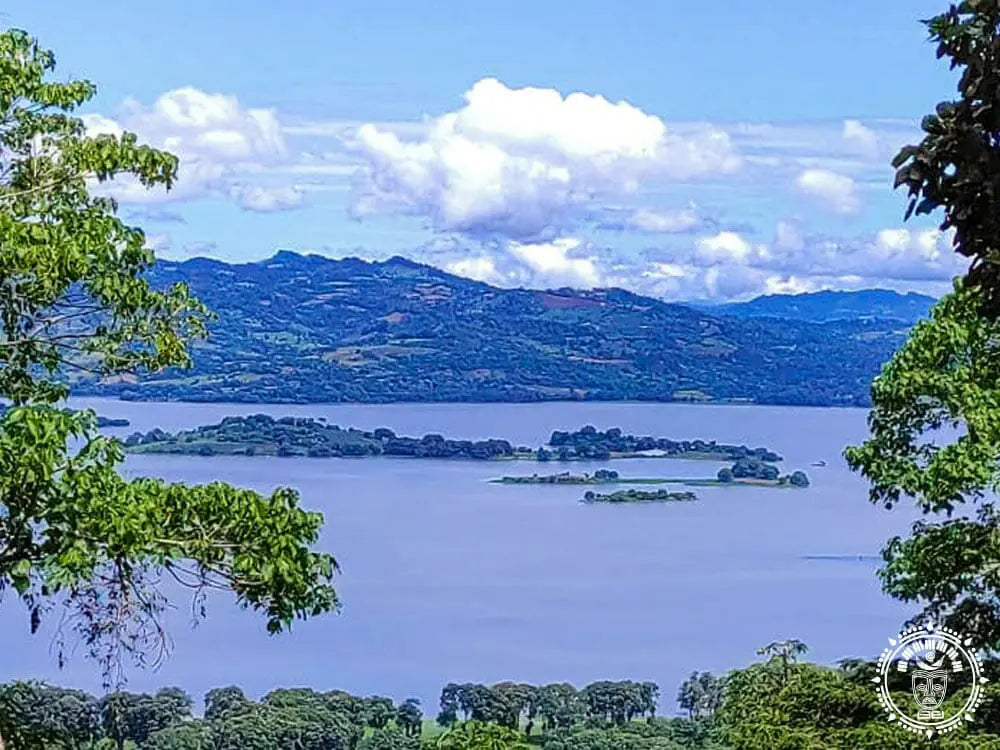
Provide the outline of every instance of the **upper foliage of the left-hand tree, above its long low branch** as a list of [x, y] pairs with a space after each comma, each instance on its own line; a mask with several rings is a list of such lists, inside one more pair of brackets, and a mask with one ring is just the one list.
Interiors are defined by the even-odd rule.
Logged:
[[54, 401], [65, 366], [99, 375], [187, 365], [204, 308], [183, 284], [154, 291], [140, 229], [94, 197], [88, 180], [170, 187], [175, 157], [118, 137], [84, 134], [71, 113], [95, 93], [87, 81], [46, 80], [51, 52], [22, 31], [0, 34], [0, 395]]

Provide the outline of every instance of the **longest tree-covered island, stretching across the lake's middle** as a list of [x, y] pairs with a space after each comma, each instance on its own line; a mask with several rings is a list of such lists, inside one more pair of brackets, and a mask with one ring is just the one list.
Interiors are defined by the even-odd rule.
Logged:
[[587, 425], [576, 432], [554, 432], [547, 445], [531, 448], [507, 440], [451, 440], [437, 434], [403, 437], [380, 428], [371, 432], [329, 425], [305, 417], [264, 414], [226, 417], [218, 424], [176, 434], [160, 429], [136, 432], [125, 441], [136, 453], [183, 453], [211, 456], [412, 456], [418, 458], [521, 459], [573, 461], [610, 458], [704, 458], [717, 461], [780, 461], [766, 448], [704, 440], [625, 435], [618, 428], [600, 432]]

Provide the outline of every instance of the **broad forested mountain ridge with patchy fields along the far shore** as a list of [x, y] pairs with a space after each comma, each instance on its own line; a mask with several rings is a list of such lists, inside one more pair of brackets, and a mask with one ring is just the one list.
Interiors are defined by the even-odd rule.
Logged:
[[714, 316], [621, 289], [498, 289], [402, 258], [161, 262], [218, 315], [195, 368], [77, 393], [192, 401], [863, 405], [898, 321]]

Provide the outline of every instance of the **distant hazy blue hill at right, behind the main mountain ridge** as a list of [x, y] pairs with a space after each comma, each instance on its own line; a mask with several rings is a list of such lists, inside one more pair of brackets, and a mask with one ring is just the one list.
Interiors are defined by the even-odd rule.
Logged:
[[900, 294], [890, 289], [861, 289], [854, 292], [827, 290], [806, 294], [768, 294], [755, 297], [749, 302], [706, 308], [706, 311], [741, 318], [794, 318], [816, 323], [877, 318], [912, 324], [926, 317], [936, 301], [926, 294]]

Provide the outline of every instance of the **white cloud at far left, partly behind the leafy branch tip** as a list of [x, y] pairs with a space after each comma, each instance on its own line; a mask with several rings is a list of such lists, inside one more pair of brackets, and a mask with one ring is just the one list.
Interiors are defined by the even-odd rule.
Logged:
[[226, 194], [235, 176], [280, 163], [287, 146], [273, 110], [243, 107], [234, 96], [186, 87], [162, 94], [151, 106], [128, 100], [120, 114], [83, 116], [91, 135], [136, 133], [142, 142], [176, 154], [178, 179], [168, 193], [117, 179], [100, 190], [123, 203], [189, 200]]

